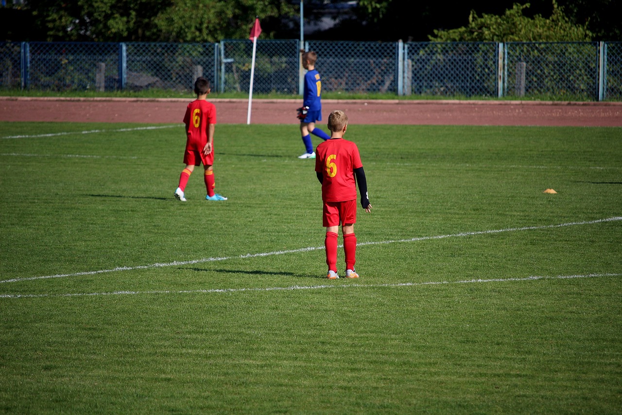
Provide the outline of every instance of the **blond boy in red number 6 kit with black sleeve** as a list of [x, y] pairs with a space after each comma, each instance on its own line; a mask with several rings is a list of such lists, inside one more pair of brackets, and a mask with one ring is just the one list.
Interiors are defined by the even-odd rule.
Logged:
[[[352, 141], [344, 140], [348, 129], [348, 116], [343, 111], [333, 111], [328, 116], [330, 140], [320, 143], [315, 149], [315, 173], [322, 183], [324, 202], [322, 224], [326, 227], [327, 278], [337, 279], [337, 239], [339, 225], [343, 232], [343, 251], [346, 260], [346, 277], [358, 278], [354, 269], [356, 262], [356, 182], [361, 192], [361, 206], [371, 212], [367, 194], [367, 181], [361, 163], [358, 147]], [[356, 179], [355, 179], [356, 176]]]

